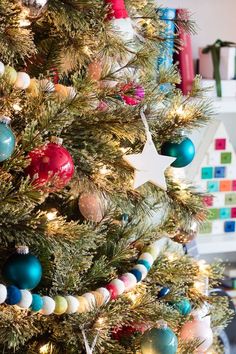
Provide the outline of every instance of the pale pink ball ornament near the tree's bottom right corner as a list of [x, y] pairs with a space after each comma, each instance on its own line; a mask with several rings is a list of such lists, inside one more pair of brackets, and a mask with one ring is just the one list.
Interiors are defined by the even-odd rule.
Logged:
[[196, 350], [198, 354], [203, 354], [213, 343], [211, 327], [206, 322], [198, 319], [185, 323], [181, 328], [180, 337], [185, 341], [199, 339], [202, 344]]

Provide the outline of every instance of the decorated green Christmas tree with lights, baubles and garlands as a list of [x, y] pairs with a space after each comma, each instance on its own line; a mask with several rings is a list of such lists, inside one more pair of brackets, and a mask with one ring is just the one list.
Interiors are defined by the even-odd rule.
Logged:
[[183, 251], [207, 213], [177, 173], [212, 111], [199, 78], [176, 88], [163, 11], [1, 0], [0, 19], [1, 351], [222, 352], [222, 269]]

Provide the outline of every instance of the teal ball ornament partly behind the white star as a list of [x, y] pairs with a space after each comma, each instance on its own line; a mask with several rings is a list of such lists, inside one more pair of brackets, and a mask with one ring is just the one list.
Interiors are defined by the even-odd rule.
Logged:
[[194, 159], [195, 146], [189, 138], [185, 138], [181, 143], [167, 141], [161, 147], [161, 154], [176, 157], [176, 160], [171, 164], [172, 167], [185, 167]]

